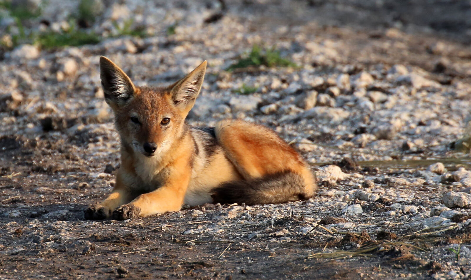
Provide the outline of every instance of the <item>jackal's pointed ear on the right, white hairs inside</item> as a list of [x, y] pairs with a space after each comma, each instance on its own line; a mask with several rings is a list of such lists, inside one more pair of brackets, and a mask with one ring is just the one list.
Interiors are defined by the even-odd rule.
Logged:
[[206, 60], [185, 78], [169, 86], [173, 103], [189, 111], [200, 93], [205, 73]]

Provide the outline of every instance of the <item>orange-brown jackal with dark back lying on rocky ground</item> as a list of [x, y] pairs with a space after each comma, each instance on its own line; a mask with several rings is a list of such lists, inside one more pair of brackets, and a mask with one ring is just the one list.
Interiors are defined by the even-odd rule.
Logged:
[[214, 129], [186, 124], [206, 62], [166, 88], [136, 87], [104, 57], [100, 70], [122, 164], [113, 191], [89, 206], [85, 218], [128, 219], [178, 211], [183, 204], [278, 203], [314, 195], [305, 162], [268, 128], [237, 120]]

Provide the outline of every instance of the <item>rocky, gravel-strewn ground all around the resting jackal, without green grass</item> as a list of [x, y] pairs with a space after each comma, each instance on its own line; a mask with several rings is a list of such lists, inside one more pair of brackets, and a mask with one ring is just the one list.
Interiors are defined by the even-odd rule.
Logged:
[[[467, 1], [21, 3], [41, 13], [22, 36], [0, 9], [0, 279], [470, 278]], [[100, 41], [28, 41], [74, 16]], [[256, 45], [291, 63], [226, 71]], [[100, 55], [137, 85], [207, 59], [188, 121], [273, 128], [318, 195], [85, 221], [119, 166]]]

